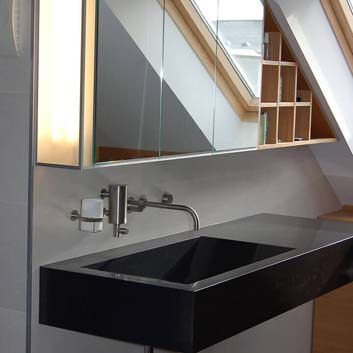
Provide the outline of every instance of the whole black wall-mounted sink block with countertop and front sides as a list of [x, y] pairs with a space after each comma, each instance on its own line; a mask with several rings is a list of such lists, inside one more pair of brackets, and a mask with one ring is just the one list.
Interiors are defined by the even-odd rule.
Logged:
[[42, 266], [42, 324], [196, 353], [353, 281], [353, 227], [257, 215]]

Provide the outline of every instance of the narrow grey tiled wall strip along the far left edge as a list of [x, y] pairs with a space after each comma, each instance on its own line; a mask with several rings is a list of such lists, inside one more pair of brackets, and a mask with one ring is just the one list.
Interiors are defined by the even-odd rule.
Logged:
[[20, 56], [0, 53], [0, 351], [4, 353], [24, 353], [26, 346], [31, 28], [28, 3], [20, 1]]

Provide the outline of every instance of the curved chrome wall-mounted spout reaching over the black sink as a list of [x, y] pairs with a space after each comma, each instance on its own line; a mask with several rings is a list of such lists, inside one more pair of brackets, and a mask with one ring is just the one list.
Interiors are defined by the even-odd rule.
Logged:
[[128, 212], [143, 212], [147, 207], [161, 208], [164, 210], [182, 211], [188, 213], [194, 222], [194, 230], [200, 229], [200, 218], [197, 212], [190, 206], [173, 204], [173, 195], [164, 193], [162, 202], [148, 201], [145, 196], [141, 196], [138, 200], [129, 197], [127, 200]]

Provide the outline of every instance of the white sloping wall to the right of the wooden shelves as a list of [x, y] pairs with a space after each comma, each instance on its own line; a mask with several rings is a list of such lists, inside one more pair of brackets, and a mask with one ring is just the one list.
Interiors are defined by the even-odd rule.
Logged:
[[320, 0], [271, 4], [340, 139], [311, 149], [340, 202], [353, 204], [353, 75]]

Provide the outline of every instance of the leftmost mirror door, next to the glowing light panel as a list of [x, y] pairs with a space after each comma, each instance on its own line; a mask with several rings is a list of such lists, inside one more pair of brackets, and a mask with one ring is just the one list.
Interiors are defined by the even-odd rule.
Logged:
[[158, 157], [163, 9], [156, 0], [98, 3], [95, 161]]

